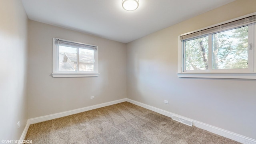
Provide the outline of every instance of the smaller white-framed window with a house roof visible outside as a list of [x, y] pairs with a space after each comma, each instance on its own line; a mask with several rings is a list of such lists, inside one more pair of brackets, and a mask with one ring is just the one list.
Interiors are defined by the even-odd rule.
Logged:
[[52, 38], [52, 76], [98, 76], [98, 46]]

